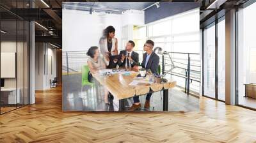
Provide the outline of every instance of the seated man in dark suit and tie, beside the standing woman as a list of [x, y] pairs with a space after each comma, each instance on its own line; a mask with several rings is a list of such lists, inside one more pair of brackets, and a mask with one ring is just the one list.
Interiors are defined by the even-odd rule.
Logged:
[[125, 50], [120, 51], [120, 57], [121, 59], [119, 59], [118, 61], [118, 66], [119, 67], [131, 67], [133, 68], [133, 66], [138, 65], [139, 63], [139, 54], [132, 51], [132, 49], [134, 48], [135, 43], [134, 41], [128, 41], [125, 47]]

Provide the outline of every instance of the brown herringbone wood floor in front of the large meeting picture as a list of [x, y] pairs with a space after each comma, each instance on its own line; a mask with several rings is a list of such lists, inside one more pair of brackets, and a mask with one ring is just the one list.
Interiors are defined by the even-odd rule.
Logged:
[[200, 112], [61, 112], [61, 88], [0, 116], [0, 142], [256, 142], [256, 112], [200, 99]]

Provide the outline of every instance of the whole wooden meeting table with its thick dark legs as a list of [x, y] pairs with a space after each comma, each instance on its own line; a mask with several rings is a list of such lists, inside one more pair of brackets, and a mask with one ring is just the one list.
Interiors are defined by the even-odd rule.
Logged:
[[170, 81], [163, 84], [148, 84], [148, 83], [140, 83], [137, 86], [130, 86], [129, 84], [136, 80], [144, 80], [147, 82], [148, 79], [134, 79], [138, 72], [129, 72], [131, 74], [125, 75], [123, 73], [113, 73], [112, 75], [102, 75], [99, 73], [93, 74], [93, 77], [102, 84], [102, 86], [106, 87], [108, 91], [113, 94], [114, 98], [119, 100], [119, 110], [125, 110], [125, 102], [126, 98], [131, 98], [133, 96], [140, 96], [147, 93], [154, 93], [157, 91], [163, 91], [163, 110], [168, 111], [168, 89], [175, 87], [176, 82]]

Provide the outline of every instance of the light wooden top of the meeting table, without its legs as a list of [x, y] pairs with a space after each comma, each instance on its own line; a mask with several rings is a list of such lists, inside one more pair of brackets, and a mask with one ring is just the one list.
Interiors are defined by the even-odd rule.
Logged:
[[124, 73], [115, 73], [111, 76], [102, 76], [99, 74], [93, 74], [93, 77], [100, 82], [108, 91], [115, 96], [118, 100], [130, 98], [134, 95], [147, 94], [150, 89], [152, 91], [161, 91], [175, 87], [176, 81], [166, 82], [164, 84], [140, 84], [140, 86], [129, 86], [133, 80], [147, 80], [146, 79], [134, 79], [139, 73], [131, 73], [130, 75], [123, 75]]

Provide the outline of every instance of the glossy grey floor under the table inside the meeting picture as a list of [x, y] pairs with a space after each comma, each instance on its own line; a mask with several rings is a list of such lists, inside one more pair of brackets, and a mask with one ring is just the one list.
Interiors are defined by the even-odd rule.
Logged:
[[[63, 75], [62, 94], [63, 111], [118, 111], [118, 100], [109, 98], [109, 105], [104, 103], [104, 87], [93, 80], [95, 86], [81, 86], [81, 74]], [[144, 106], [145, 96], [140, 96], [141, 107]], [[125, 100], [127, 109], [133, 100]], [[163, 111], [163, 91], [152, 94], [150, 99], [151, 111]], [[199, 99], [178, 89], [169, 89], [169, 111], [199, 110]], [[143, 111], [143, 109], [141, 109]]]

